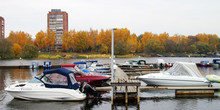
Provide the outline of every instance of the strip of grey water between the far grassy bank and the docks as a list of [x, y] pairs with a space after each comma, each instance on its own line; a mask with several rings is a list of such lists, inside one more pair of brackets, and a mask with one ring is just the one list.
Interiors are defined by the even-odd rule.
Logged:
[[[216, 58], [200, 58], [200, 57], [136, 57], [136, 58], [115, 58], [116, 63], [124, 63], [128, 60], [146, 60], [147, 63], [157, 63], [157, 59], [163, 59], [165, 63], [175, 63], [176, 61], [184, 61], [184, 62], [194, 62], [194, 63], [200, 63], [200, 61], [209, 61], [212, 62], [213, 59]], [[58, 59], [58, 60], [50, 60], [52, 65], [61, 65], [61, 64], [72, 64], [76, 61], [81, 60], [98, 60], [100, 63], [110, 63], [110, 58], [89, 58], [89, 59]], [[1, 60], [0, 66], [18, 66], [18, 65], [30, 65], [31, 62], [37, 61], [39, 62], [39, 65], [43, 65], [44, 61], [43, 59], [39, 60]]]

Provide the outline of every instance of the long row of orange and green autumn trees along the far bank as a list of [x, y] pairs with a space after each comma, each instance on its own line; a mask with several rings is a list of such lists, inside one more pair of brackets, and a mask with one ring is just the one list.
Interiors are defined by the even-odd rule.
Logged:
[[[62, 50], [64, 52], [95, 52], [109, 54], [111, 52], [111, 30], [101, 29], [90, 31], [70, 30], [64, 32], [62, 38]], [[38, 55], [38, 51], [50, 52], [56, 42], [56, 34], [53, 31], [40, 31], [35, 35], [35, 39], [31, 35], [23, 31], [11, 31], [6, 39], [0, 42], [1, 59], [8, 57], [24, 57], [29, 58], [29, 53], [24, 51], [29, 49], [30, 53]], [[2, 54], [5, 52], [7, 45], [8, 52], [11, 55]], [[28, 48], [25, 46], [28, 45]], [[164, 32], [154, 34], [145, 32], [137, 36], [131, 33], [127, 28], [117, 29], [114, 31], [114, 45], [116, 55], [125, 54], [206, 54], [208, 52], [220, 51], [220, 39], [216, 34], [197, 34], [195, 36], [174, 35], [170, 36]], [[37, 51], [37, 52], [33, 52]], [[8, 53], [7, 53], [8, 54]], [[26, 55], [29, 54], [29, 55]], [[25, 56], [26, 55], [26, 56]]]

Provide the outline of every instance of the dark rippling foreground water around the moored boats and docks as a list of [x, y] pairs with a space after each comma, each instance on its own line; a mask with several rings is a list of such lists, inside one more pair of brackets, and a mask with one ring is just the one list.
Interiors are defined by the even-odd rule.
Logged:
[[[147, 58], [148, 61], [149, 58]], [[171, 61], [172, 58], [165, 59]], [[109, 59], [103, 59], [105, 62]], [[119, 59], [123, 62], [126, 59]], [[128, 60], [128, 59], [127, 59]], [[153, 59], [151, 59], [153, 61]], [[155, 59], [154, 59], [155, 60]], [[177, 59], [174, 59], [177, 60]], [[185, 60], [180, 58], [179, 60]], [[197, 61], [199, 59], [188, 59]], [[204, 60], [201, 59], [200, 60]], [[212, 60], [209, 58], [209, 60]], [[10, 61], [12, 62], [12, 61]], [[72, 62], [72, 61], [69, 61]], [[106, 63], [106, 62], [105, 62]], [[220, 69], [199, 68], [205, 76], [208, 74], [220, 75]], [[4, 91], [5, 87], [18, 82], [25, 82], [41, 74], [43, 70], [29, 69], [0, 69], [0, 109], [1, 110], [219, 110], [220, 92], [216, 91], [214, 97], [205, 98], [175, 98], [173, 90], [160, 91], [143, 91], [140, 93], [141, 101], [138, 106], [136, 101], [129, 100], [125, 105], [124, 100], [111, 106], [110, 93], [103, 93], [104, 99], [88, 99], [80, 102], [42, 102], [42, 101], [25, 101], [14, 99], [10, 94]], [[142, 85], [144, 83], [142, 82]], [[217, 84], [218, 85], [218, 84]], [[219, 86], [219, 85], [218, 85]]]

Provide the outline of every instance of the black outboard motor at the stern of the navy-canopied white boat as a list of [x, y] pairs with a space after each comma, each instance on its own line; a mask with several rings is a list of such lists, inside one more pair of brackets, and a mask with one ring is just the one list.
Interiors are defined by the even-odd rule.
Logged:
[[94, 97], [98, 97], [98, 93], [86, 82], [81, 82], [79, 90], [82, 93], [85, 93], [87, 96], [92, 95]]

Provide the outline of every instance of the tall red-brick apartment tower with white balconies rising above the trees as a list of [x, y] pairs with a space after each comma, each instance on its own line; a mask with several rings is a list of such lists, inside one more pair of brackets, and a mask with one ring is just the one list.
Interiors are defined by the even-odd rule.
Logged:
[[53, 30], [56, 33], [57, 49], [62, 49], [61, 36], [65, 31], [68, 31], [68, 13], [61, 9], [51, 9], [47, 14], [47, 29]]

